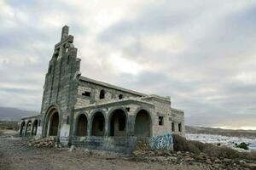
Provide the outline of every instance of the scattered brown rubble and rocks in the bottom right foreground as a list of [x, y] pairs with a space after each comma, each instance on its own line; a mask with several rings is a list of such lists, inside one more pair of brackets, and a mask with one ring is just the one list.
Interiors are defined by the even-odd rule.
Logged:
[[141, 150], [132, 152], [132, 161], [160, 162], [161, 164], [187, 164], [207, 165], [212, 169], [256, 169], [256, 162], [252, 160], [227, 159], [222, 157], [207, 156], [204, 153], [193, 154], [190, 152], [171, 150]]

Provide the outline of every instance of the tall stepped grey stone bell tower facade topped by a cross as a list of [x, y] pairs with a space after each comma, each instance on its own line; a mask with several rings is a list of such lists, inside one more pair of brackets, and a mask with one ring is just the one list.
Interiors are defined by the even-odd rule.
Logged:
[[41, 107], [43, 123], [42, 136], [49, 133], [49, 108], [55, 107], [59, 114], [59, 137], [68, 137], [75, 95], [78, 82], [75, 75], [80, 69], [80, 59], [77, 58], [78, 49], [73, 45], [73, 36], [69, 35], [69, 27], [63, 26], [61, 42], [55, 44], [54, 53], [49, 60], [49, 69], [44, 81], [44, 94]]

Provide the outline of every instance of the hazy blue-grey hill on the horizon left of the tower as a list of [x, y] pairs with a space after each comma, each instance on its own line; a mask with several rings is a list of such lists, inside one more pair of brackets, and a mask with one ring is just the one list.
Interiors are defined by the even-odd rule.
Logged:
[[0, 121], [18, 121], [21, 116], [38, 115], [36, 111], [24, 111], [12, 107], [0, 107]]

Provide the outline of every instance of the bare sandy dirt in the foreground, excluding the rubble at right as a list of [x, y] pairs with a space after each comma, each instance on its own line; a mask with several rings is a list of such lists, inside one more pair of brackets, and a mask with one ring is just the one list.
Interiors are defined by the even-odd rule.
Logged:
[[1, 170], [57, 170], [57, 169], [209, 169], [204, 165], [172, 165], [159, 162], [141, 162], [129, 156], [113, 153], [90, 152], [86, 150], [35, 148], [20, 145], [20, 139], [0, 136]]

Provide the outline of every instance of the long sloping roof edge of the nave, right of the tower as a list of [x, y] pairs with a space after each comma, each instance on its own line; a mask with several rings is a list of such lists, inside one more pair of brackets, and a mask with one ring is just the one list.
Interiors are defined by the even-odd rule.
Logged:
[[109, 84], [107, 82], [97, 81], [97, 80], [94, 80], [94, 79], [91, 79], [91, 78], [88, 78], [88, 77], [80, 76], [79, 77], [79, 81], [91, 82], [91, 83], [98, 84], [98, 85], [101, 85], [101, 86], [104, 86], [104, 87], [107, 87], [107, 88], [117, 89], [119, 91], [123, 91], [123, 92], [129, 93], [129, 94], [136, 94], [138, 96], [148, 96], [148, 94], [142, 94], [142, 93], [136, 92], [134, 90], [130, 90], [130, 89], [126, 89], [126, 88], [121, 88], [119, 86], [115, 86], [115, 85]]

